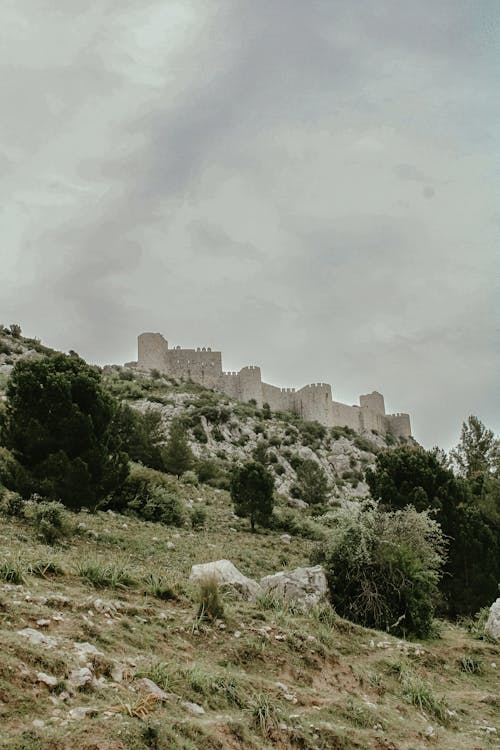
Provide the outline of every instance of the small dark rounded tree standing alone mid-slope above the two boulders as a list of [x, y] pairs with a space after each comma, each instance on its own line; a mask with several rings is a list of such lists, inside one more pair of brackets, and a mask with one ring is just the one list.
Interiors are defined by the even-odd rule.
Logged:
[[273, 514], [274, 479], [262, 464], [248, 461], [234, 469], [230, 492], [234, 512], [250, 519], [252, 531], [255, 525], [267, 526]]

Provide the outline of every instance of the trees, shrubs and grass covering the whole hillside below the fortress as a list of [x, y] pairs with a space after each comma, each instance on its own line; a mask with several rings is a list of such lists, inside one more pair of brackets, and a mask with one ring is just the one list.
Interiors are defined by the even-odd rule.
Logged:
[[[7, 359], [0, 747], [487, 746], [493, 733], [474, 724], [494, 712], [480, 700], [494, 679], [484, 614], [470, 633], [435, 620], [497, 595], [498, 441], [477, 417], [447, 456], [160, 373], [100, 372], [17, 328], [0, 331]], [[255, 578], [320, 561], [333, 607], [306, 616], [188, 583], [192, 564], [220, 558]], [[57, 653], [30, 648], [26, 628]], [[79, 642], [101, 652], [83, 690]], [[179, 698], [153, 700], [145, 677]], [[78, 707], [91, 709], [81, 724]], [[26, 728], [27, 713], [46, 724]]]

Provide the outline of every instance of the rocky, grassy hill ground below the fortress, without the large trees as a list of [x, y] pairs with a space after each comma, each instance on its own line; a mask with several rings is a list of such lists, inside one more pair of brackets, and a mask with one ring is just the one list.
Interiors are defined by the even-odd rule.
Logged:
[[[2, 342], [4, 386], [16, 358], [44, 350], [9, 335]], [[259, 579], [310, 565], [327, 509], [293, 496], [300, 461], [325, 472], [330, 508], [348, 506], [366, 493], [362, 472], [385, 447], [380, 436], [322, 432], [127, 368], [106, 368], [103, 378], [141, 412], [159, 410], [165, 435], [181, 419], [212, 476], [198, 484], [164, 476], [180, 503], [178, 526], [67, 512], [48, 545], [36, 503], [4, 508], [0, 748], [495, 746], [499, 652], [478, 623], [439, 622], [432, 640], [416, 643], [343, 620], [327, 604], [304, 612], [231, 589], [223, 617], [199, 617], [191, 566], [225, 558]], [[276, 478], [281, 521], [252, 534], [224, 486], [228, 468], [256, 450]]]

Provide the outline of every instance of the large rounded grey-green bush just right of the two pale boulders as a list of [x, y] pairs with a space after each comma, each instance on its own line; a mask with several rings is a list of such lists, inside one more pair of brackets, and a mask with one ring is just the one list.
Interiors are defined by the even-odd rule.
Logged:
[[336, 611], [367, 627], [431, 633], [445, 542], [439, 525], [414, 508], [376, 504], [339, 510], [316, 556], [326, 568]]

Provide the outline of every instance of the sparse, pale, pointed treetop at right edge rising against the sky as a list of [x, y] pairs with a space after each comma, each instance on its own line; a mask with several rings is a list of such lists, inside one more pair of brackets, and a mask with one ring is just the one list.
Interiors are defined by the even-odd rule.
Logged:
[[478, 417], [471, 415], [462, 423], [460, 440], [450, 455], [460, 476], [484, 477], [498, 470], [499, 441]]

